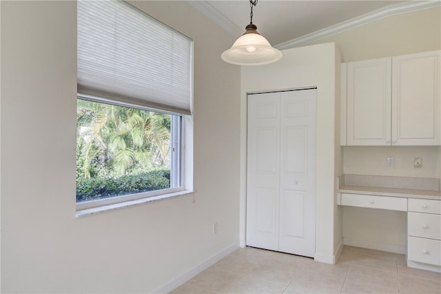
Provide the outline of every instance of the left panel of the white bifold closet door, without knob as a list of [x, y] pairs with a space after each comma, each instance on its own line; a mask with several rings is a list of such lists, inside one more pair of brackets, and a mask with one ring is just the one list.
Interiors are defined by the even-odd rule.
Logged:
[[278, 250], [280, 94], [253, 95], [248, 105], [247, 245]]

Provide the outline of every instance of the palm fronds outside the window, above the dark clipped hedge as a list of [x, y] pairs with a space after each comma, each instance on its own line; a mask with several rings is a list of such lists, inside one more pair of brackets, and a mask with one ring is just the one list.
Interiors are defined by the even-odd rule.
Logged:
[[170, 115], [78, 100], [77, 151], [83, 176], [112, 162], [120, 176], [135, 167], [170, 166]]

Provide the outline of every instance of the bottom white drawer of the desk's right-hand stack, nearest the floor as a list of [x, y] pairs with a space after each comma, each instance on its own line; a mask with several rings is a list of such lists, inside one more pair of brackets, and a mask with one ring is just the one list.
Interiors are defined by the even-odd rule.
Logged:
[[425, 264], [441, 265], [441, 241], [407, 238], [407, 259]]

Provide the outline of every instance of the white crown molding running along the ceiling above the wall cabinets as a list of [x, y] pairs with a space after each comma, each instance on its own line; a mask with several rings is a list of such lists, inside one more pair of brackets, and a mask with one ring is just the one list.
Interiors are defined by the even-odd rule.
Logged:
[[334, 34], [339, 34], [340, 32], [345, 32], [347, 30], [351, 30], [353, 28], [357, 28], [361, 25], [366, 25], [367, 23], [371, 23], [373, 21], [378, 21], [380, 19], [384, 19], [386, 17], [391, 17], [393, 15], [404, 14], [409, 12], [414, 12], [418, 10], [425, 10], [435, 7], [440, 7], [441, 1], [409, 1], [404, 3], [398, 3], [393, 6], [388, 6], [386, 8], [382, 8], [379, 10], [375, 10], [373, 12], [363, 14], [360, 17], [355, 17], [353, 19], [349, 19], [348, 21], [343, 21], [342, 23], [338, 23], [336, 25], [331, 25], [328, 28], [323, 30], [318, 30], [316, 32], [312, 32], [311, 34], [306, 34], [305, 36], [300, 36], [291, 41], [287, 41], [284, 43], [280, 43], [275, 45], [274, 48], [278, 50], [296, 48], [302, 45], [307, 45], [314, 41], [318, 41], [320, 39], [327, 38], [328, 36], [332, 36]]

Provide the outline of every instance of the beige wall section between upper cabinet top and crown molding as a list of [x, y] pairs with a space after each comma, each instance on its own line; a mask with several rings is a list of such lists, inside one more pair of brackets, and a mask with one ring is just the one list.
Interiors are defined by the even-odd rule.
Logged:
[[440, 49], [441, 8], [387, 17], [316, 43], [336, 42], [342, 62]]

